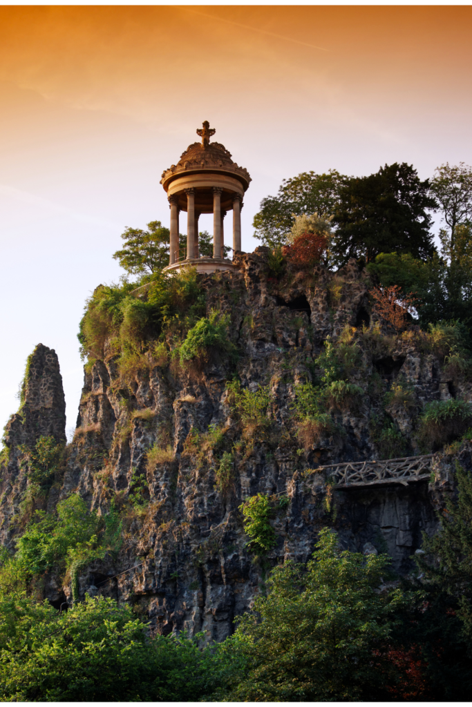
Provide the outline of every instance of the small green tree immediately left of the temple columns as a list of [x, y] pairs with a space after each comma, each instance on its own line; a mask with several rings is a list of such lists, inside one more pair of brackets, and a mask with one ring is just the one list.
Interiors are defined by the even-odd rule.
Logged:
[[125, 228], [121, 236], [125, 245], [113, 253], [129, 274], [153, 274], [169, 264], [170, 231], [161, 221], [150, 221], [147, 228]]

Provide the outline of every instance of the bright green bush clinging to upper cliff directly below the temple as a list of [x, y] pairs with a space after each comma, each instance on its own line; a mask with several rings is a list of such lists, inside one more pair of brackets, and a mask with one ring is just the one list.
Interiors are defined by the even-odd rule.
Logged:
[[229, 340], [228, 326], [229, 315], [222, 315], [217, 310], [200, 319], [180, 346], [180, 363], [195, 359], [206, 361], [212, 349], [234, 357], [236, 347]]

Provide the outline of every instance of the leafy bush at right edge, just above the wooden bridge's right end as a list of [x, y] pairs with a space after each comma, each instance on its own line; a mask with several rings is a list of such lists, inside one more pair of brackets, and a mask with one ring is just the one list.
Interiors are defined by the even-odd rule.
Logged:
[[420, 417], [418, 438], [425, 448], [438, 450], [461, 436], [471, 423], [471, 403], [455, 398], [434, 400]]

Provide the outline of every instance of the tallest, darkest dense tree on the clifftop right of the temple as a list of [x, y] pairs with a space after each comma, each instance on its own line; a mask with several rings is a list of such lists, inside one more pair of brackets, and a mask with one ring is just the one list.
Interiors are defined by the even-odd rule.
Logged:
[[428, 180], [420, 181], [412, 165], [385, 165], [376, 174], [355, 177], [340, 188], [338, 228], [333, 252], [339, 264], [363, 258], [372, 262], [384, 252], [411, 253], [426, 259], [434, 252], [430, 234], [436, 201]]

